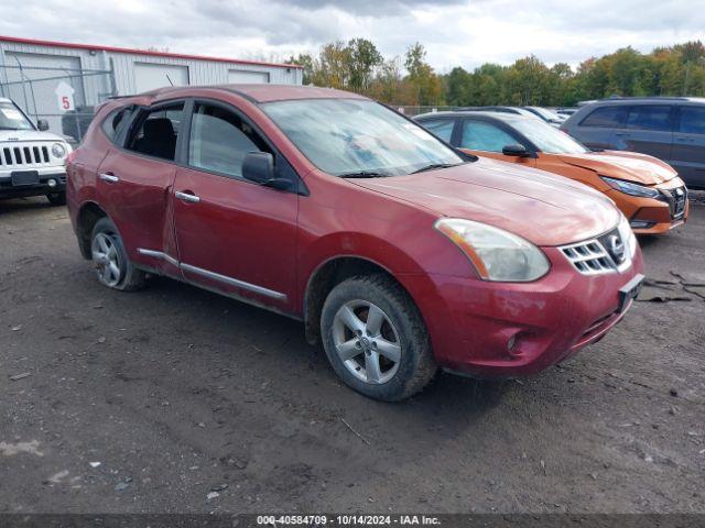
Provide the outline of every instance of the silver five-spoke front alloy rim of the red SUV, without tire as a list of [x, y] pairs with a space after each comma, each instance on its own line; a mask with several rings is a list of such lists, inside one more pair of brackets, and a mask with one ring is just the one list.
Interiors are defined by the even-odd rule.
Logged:
[[345, 367], [365, 383], [387, 383], [399, 370], [399, 333], [372, 302], [358, 299], [340, 307], [333, 321], [333, 343]]

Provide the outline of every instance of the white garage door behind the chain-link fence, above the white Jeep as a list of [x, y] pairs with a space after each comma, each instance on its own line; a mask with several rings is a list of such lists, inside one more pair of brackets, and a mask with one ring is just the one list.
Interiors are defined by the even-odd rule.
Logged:
[[[6, 52], [4, 64], [22, 66], [7, 68], [8, 84], [2, 94], [14, 100], [30, 116], [48, 121], [50, 130], [62, 133], [62, 111], [56, 102], [56, 87], [66, 82], [74, 88], [77, 109], [85, 102], [84, 84], [80, 76], [80, 58], [39, 53]], [[23, 74], [23, 75], [22, 75]]]

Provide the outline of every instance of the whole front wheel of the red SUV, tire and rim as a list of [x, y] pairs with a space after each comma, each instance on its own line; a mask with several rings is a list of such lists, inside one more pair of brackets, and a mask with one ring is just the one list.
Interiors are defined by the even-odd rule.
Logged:
[[333, 288], [323, 306], [321, 336], [338, 376], [370, 398], [408, 398], [437, 370], [419, 309], [383, 275], [348, 278]]

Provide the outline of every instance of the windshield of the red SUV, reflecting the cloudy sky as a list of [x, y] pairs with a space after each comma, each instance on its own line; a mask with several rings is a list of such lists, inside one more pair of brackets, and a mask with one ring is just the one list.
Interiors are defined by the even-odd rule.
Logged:
[[420, 125], [375, 101], [304, 99], [262, 109], [314, 165], [335, 176], [398, 176], [465, 162]]

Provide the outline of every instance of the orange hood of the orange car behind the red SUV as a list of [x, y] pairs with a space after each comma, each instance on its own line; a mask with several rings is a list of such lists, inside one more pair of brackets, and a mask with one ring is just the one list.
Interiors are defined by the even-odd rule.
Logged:
[[663, 184], [677, 176], [677, 173], [661, 160], [633, 152], [605, 151], [586, 154], [558, 154], [558, 157], [570, 165], [641, 185]]

